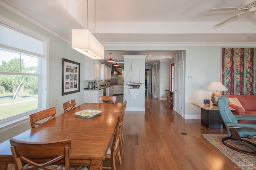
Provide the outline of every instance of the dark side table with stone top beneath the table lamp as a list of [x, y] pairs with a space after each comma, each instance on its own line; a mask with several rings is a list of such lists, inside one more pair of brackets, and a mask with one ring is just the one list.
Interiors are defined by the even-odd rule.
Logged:
[[192, 103], [201, 108], [201, 124], [209, 129], [223, 129], [219, 107], [212, 104]]

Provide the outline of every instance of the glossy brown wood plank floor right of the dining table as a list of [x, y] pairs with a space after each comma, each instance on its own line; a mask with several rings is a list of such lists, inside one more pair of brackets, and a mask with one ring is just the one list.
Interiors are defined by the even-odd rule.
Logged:
[[202, 136], [226, 134], [226, 129], [207, 129], [198, 119], [183, 119], [152, 95], [146, 95], [145, 107], [145, 114], [124, 115], [124, 153], [117, 170], [240, 169]]

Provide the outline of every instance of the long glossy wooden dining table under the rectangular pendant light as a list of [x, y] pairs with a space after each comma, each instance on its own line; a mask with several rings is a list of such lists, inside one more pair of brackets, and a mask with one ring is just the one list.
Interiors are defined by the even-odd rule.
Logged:
[[[90, 170], [102, 170], [122, 107], [122, 103], [84, 103], [13, 138], [28, 142], [71, 139], [70, 164], [90, 166]], [[86, 109], [102, 112], [92, 118], [74, 114]], [[0, 144], [0, 170], [7, 170], [8, 164], [13, 164], [9, 140]]]

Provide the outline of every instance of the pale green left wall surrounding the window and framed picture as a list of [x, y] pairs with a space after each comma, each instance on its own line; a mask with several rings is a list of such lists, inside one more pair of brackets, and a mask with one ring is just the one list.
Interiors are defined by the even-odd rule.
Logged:
[[[40, 27], [20, 18], [12, 12], [0, 7], [0, 15], [22, 25], [34, 32], [37, 32], [49, 39], [48, 47], [48, 68], [49, 68], [49, 87], [47, 108], [56, 107], [56, 115], [63, 113], [63, 103], [75, 99], [76, 105], [83, 103], [84, 85], [80, 86], [80, 92], [61, 96], [62, 94], [62, 58], [80, 63], [80, 83], [84, 82], [84, 55], [71, 49], [71, 44], [60, 38], [44, 31]], [[31, 128], [29, 117], [26, 123], [0, 133], [0, 142], [10, 139]]]

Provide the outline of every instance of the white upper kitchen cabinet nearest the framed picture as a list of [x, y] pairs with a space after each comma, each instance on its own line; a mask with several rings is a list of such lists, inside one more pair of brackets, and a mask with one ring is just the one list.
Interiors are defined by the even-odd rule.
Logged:
[[100, 62], [90, 57], [84, 59], [84, 80], [100, 80]]

